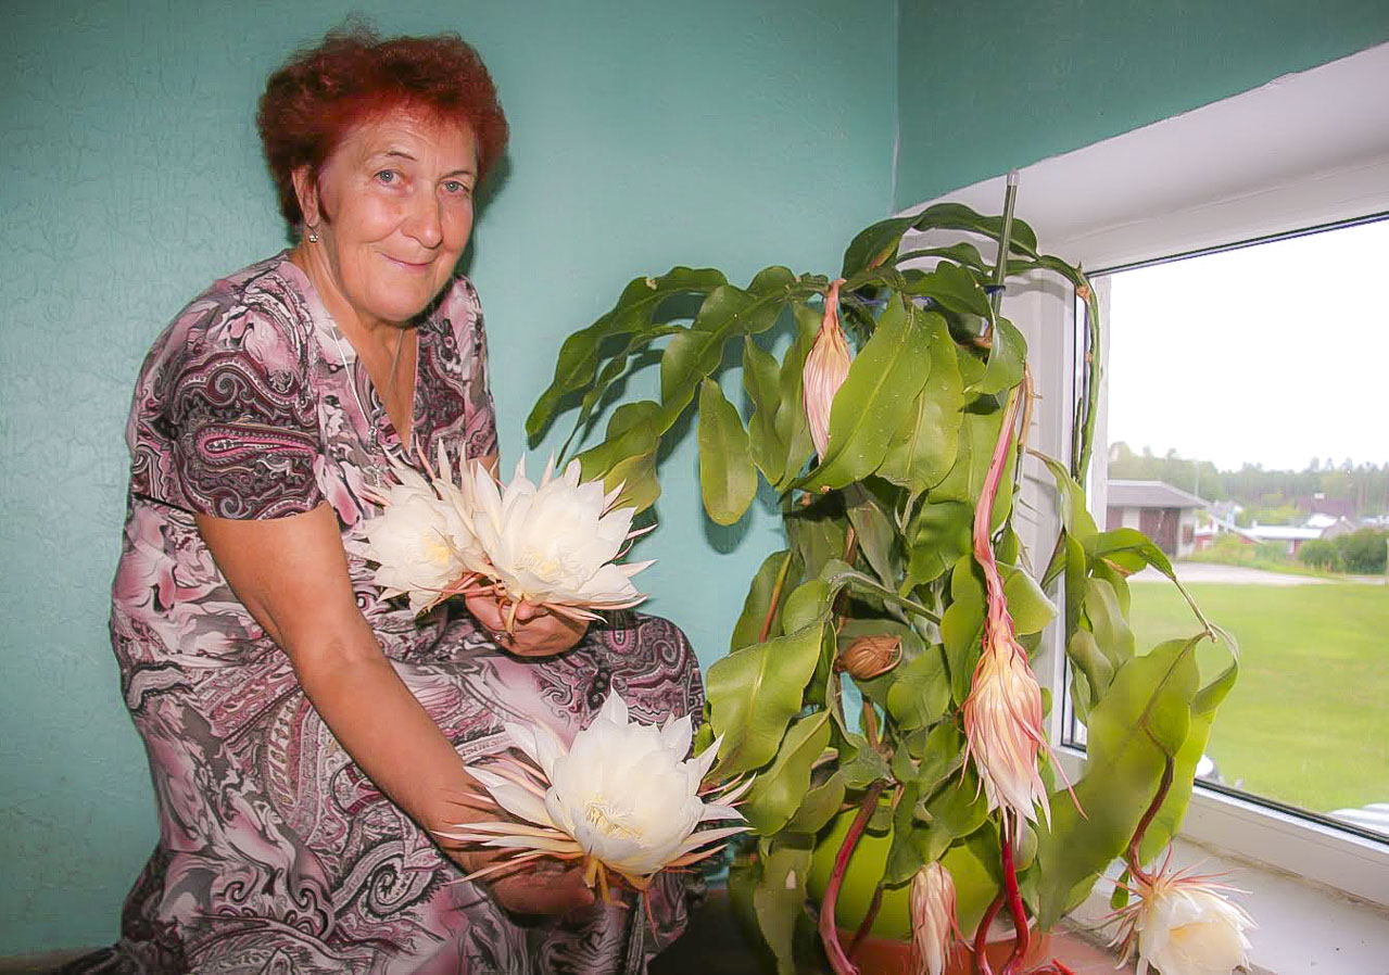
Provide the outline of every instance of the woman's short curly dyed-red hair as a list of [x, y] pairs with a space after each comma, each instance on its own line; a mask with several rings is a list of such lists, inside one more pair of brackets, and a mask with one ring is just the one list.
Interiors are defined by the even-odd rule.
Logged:
[[394, 110], [467, 125], [478, 143], [479, 182], [507, 144], [497, 89], [478, 51], [458, 35], [382, 40], [361, 25], [331, 31], [269, 76], [256, 112], [290, 226], [304, 219], [290, 174], [307, 165], [317, 179], [349, 129]]

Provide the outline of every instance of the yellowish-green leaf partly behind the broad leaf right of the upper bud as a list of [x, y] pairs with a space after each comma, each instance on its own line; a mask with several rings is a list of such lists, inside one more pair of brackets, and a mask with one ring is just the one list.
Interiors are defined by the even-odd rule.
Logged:
[[893, 436], [878, 475], [920, 493], [935, 488], [950, 472], [960, 443], [960, 410], [964, 407], [964, 379], [960, 357], [946, 319], [922, 315], [931, 369], [904, 425]]

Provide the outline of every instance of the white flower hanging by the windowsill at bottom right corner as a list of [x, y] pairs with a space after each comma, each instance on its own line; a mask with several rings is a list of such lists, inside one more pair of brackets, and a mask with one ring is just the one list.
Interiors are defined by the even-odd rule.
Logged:
[[1210, 878], [1157, 871], [1135, 876], [1129, 888], [1135, 901], [1120, 911], [1124, 958], [1138, 950], [1138, 975], [1149, 965], [1163, 975], [1228, 975], [1249, 965], [1247, 929], [1253, 918], [1232, 904]]

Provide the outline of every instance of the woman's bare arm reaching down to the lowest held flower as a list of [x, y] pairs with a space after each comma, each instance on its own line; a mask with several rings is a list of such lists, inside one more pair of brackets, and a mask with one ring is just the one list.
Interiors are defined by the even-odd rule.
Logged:
[[[426, 831], [467, 818], [457, 800], [476, 792], [472, 778], [358, 611], [332, 508], [325, 503], [267, 521], [197, 515], [197, 528], [232, 590], [289, 656], [308, 700], [371, 781]], [[465, 868], [479, 862], [456, 858]], [[593, 900], [578, 871], [543, 882], [507, 878], [493, 889], [522, 912], [561, 914]]]

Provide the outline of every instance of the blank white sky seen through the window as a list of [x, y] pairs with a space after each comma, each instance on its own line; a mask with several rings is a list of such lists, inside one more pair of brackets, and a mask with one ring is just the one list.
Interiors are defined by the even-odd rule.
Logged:
[[1111, 282], [1111, 443], [1222, 471], [1389, 461], [1389, 219]]

